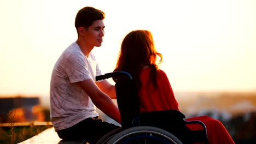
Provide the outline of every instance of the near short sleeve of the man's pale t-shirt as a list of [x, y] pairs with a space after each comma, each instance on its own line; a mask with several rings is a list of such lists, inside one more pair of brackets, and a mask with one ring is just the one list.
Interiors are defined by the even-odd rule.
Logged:
[[64, 69], [71, 83], [92, 79], [88, 70], [88, 62], [81, 52], [75, 52], [69, 55], [64, 64]]

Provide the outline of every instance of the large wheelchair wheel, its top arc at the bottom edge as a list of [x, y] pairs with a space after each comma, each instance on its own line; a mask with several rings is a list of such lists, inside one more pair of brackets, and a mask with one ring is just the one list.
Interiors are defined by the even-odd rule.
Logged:
[[132, 127], [120, 131], [120, 133], [115, 134], [109, 139], [107, 144], [115, 143], [177, 143], [182, 144], [182, 142], [177, 139], [176, 136], [169, 133], [166, 130], [149, 127], [149, 126], [139, 126]]

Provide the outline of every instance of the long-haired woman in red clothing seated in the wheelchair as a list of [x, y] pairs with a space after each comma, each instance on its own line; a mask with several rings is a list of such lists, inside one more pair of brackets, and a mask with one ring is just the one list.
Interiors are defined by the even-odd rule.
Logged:
[[[152, 33], [149, 31], [132, 31], [126, 35], [121, 44], [114, 71], [126, 71], [131, 74], [139, 97], [140, 113], [179, 111], [170, 82], [165, 72], [156, 64], [157, 56], [161, 63], [162, 55], [156, 51]], [[224, 125], [217, 119], [200, 116], [186, 120], [201, 121], [206, 125], [208, 143], [234, 143]], [[197, 126], [190, 125], [188, 128], [195, 130]]]

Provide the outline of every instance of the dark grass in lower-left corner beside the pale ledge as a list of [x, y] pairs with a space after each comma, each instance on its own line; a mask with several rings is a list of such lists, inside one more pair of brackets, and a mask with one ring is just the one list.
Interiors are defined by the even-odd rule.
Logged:
[[45, 129], [53, 127], [53, 125], [34, 125], [33, 123], [14, 126], [14, 117], [13, 111], [10, 111], [8, 114], [9, 127], [0, 127], [0, 143], [20, 143], [41, 133]]

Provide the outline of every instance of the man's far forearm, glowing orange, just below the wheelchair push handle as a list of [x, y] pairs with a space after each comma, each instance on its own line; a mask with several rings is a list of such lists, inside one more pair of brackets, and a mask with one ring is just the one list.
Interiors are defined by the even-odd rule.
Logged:
[[111, 83], [109, 83], [107, 80], [96, 82], [96, 85], [110, 98], [117, 99], [117, 95], [115, 94], [115, 86], [111, 85]]

